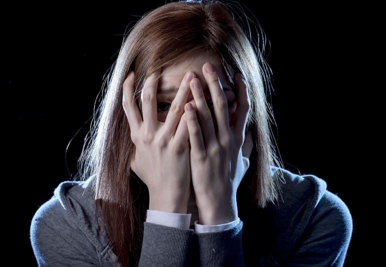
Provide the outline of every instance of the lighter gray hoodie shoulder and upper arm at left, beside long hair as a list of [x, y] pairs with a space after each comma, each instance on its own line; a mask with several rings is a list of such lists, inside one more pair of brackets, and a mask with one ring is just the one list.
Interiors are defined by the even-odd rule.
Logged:
[[35, 212], [30, 238], [39, 263], [76, 257], [69, 262], [82, 265], [112, 254], [96, 213], [93, 180], [62, 182]]

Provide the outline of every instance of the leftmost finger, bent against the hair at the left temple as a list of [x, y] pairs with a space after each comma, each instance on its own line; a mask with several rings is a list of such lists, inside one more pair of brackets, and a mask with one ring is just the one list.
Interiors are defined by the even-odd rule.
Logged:
[[139, 112], [138, 106], [134, 98], [134, 79], [135, 74], [133, 71], [129, 72], [125, 81], [123, 82], [123, 97], [122, 105], [125, 111], [126, 118], [130, 125], [130, 130], [138, 129], [142, 122], [142, 117]]

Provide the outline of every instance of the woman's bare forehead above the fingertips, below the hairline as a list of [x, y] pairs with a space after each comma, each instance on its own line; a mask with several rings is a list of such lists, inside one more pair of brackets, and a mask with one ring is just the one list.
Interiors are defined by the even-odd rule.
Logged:
[[202, 74], [202, 66], [206, 62], [210, 62], [214, 66], [221, 84], [223, 86], [226, 85], [227, 87], [231, 87], [230, 81], [226, 76], [225, 70], [219, 58], [211, 52], [204, 51], [197, 55], [187, 57], [182, 62], [163, 69], [159, 82], [158, 92], [161, 93], [165, 90], [178, 89], [182, 79], [188, 71], [192, 71], [195, 74], [195, 77], [200, 80], [201, 85], [205, 90], [207, 88], [207, 84]]

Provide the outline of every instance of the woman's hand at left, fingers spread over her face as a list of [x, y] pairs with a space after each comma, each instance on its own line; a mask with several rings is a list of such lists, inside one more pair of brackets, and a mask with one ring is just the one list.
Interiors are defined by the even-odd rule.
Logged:
[[189, 132], [184, 105], [194, 74], [186, 73], [165, 122], [157, 120], [159, 72], [145, 81], [142, 115], [134, 98], [134, 72], [123, 83], [123, 108], [136, 146], [131, 168], [149, 189], [149, 209], [186, 213], [190, 196]]

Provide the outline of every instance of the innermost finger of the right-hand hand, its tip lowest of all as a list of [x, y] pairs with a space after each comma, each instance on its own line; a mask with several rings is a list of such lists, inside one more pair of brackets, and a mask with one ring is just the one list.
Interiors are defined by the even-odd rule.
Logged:
[[206, 149], [200, 124], [197, 120], [196, 112], [191, 103], [185, 105], [186, 123], [189, 131], [189, 142], [191, 155], [196, 159], [206, 157]]

